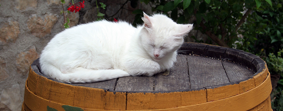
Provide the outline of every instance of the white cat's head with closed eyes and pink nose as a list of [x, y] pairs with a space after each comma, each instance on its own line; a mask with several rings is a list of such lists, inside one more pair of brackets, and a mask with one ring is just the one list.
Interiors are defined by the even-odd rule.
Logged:
[[177, 24], [162, 14], [148, 16], [144, 13], [142, 20], [141, 44], [156, 62], [176, 53], [193, 28], [193, 24]]

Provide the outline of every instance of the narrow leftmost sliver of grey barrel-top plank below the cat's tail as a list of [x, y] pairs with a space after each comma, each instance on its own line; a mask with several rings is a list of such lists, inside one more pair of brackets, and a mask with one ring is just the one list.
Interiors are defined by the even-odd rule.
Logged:
[[70, 85], [114, 90], [115, 89], [115, 82], [116, 82], [116, 79], [111, 79], [111, 80], [107, 80], [107, 81], [92, 82], [92, 83], [71, 83]]

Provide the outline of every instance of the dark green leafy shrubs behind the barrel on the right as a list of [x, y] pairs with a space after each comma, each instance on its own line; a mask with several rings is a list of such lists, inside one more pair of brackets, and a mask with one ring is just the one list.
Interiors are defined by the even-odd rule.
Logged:
[[[152, 12], [164, 13], [179, 24], [192, 24], [207, 40], [195, 42], [240, 49], [266, 61], [273, 82], [273, 110], [283, 110], [282, 0], [140, 0]], [[135, 10], [133, 25], [141, 24]], [[280, 79], [280, 80], [279, 80]], [[278, 85], [277, 85], [277, 81]], [[276, 87], [277, 86], [277, 87]]]

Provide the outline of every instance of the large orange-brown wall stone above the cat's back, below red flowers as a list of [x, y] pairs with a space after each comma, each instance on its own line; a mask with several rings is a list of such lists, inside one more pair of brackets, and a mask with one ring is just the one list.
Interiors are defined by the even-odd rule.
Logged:
[[44, 37], [51, 32], [52, 27], [58, 19], [57, 15], [45, 14], [44, 17], [38, 17], [33, 14], [27, 21], [27, 27], [32, 35], [36, 37]]

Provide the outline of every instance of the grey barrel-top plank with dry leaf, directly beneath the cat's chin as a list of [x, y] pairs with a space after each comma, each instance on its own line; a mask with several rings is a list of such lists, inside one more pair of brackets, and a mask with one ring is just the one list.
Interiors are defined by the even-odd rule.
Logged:
[[155, 75], [154, 91], [173, 91], [189, 89], [189, 74], [186, 55], [178, 55], [169, 75]]

